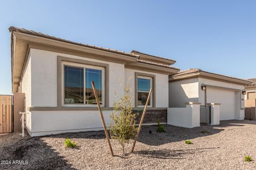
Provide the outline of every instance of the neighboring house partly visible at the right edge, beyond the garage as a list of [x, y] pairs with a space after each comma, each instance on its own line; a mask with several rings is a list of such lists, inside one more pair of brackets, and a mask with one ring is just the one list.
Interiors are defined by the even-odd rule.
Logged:
[[248, 79], [252, 81], [251, 84], [245, 86], [245, 119], [247, 120], [255, 120], [256, 119], [256, 78]]

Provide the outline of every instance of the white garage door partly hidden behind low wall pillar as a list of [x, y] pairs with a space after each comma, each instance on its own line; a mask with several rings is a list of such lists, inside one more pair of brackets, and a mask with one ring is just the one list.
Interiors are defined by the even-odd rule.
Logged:
[[235, 119], [235, 91], [207, 87], [207, 103], [220, 103], [220, 120]]

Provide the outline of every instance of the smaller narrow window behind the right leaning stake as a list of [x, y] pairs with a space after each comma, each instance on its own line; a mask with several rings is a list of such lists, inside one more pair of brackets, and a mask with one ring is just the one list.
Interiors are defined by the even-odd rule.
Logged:
[[[149, 90], [152, 87], [152, 79], [147, 77], [138, 77], [137, 79], [138, 83], [138, 99], [137, 99], [137, 105], [138, 106], [145, 106], [147, 102], [147, 98], [149, 95]], [[151, 106], [151, 97], [148, 103], [148, 106]]]

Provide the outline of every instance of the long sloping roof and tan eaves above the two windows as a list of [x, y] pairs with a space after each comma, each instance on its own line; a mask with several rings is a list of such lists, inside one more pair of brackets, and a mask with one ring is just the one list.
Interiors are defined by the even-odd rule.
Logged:
[[11, 32], [11, 69], [12, 92], [18, 90], [21, 77], [31, 48], [51, 52], [94, 58], [97, 60], [122, 63], [126, 68], [156, 72], [161, 74], [177, 73], [179, 69], [166, 65], [161, 57], [149, 56], [148, 60], [140, 60], [140, 55], [126, 53], [116, 49], [103, 48], [88, 44], [75, 43], [47, 34], [18, 27], [10, 27]]

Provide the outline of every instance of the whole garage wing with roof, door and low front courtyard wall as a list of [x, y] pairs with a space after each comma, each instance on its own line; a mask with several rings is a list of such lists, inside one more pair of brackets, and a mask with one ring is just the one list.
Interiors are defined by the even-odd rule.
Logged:
[[[243, 92], [244, 86], [249, 83], [249, 80], [200, 69], [170, 75], [168, 122], [193, 128], [200, 123], [219, 124], [222, 120], [243, 120]], [[191, 115], [188, 115], [188, 111]]]

